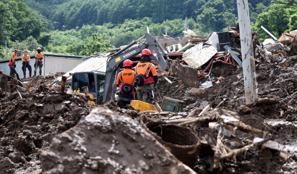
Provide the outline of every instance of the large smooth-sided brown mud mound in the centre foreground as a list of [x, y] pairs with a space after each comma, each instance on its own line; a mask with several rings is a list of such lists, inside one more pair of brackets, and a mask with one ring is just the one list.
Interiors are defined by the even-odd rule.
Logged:
[[44, 173], [195, 173], [131, 118], [97, 108], [41, 154]]

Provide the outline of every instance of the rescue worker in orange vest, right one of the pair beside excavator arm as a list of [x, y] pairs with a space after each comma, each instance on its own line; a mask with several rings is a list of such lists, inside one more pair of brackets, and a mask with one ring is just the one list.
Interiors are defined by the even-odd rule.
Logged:
[[146, 103], [152, 103], [154, 100], [153, 90], [158, 82], [156, 67], [151, 63], [151, 56], [150, 50], [142, 50], [140, 62], [135, 68], [135, 84], [137, 85], [135, 98]]

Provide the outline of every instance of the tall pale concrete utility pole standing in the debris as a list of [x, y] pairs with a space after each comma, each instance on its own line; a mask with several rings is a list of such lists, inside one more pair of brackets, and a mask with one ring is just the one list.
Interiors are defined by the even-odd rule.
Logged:
[[243, 59], [245, 103], [252, 104], [258, 99], [258, 90], [253, 59], [248, 0], [237, 0], [237, 10], [240, 29], [241, 55]]

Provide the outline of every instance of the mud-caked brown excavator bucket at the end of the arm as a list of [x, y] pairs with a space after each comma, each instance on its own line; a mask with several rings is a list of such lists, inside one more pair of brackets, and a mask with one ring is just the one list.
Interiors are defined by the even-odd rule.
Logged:
[[168, 73], [171, 76], [177, 75], [185, 86], [199, 88], [199, 75], [197, 69], [194, 67], [173, 63]]

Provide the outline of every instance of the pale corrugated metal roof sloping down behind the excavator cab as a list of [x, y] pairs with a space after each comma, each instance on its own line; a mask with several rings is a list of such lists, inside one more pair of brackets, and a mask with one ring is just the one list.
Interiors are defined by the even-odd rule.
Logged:
[[[74, 69], [64, 74], [68, 77], [67, 80], [71, 80], [72, 76], [70, 74], [76, 72], [91, 72], [91, 71], [101, 71], [105, 72], [107, 67], [107, 59], [109, 56], [91, 56], [89, 59], [78, 64]], [[61, 81], [62, 77], [58, 77], [57, 81]]]

